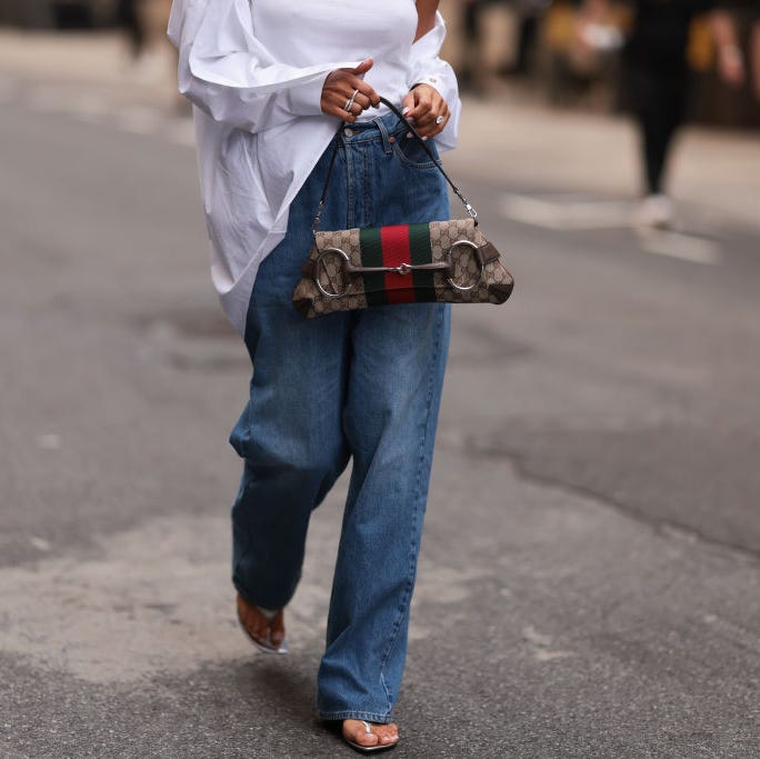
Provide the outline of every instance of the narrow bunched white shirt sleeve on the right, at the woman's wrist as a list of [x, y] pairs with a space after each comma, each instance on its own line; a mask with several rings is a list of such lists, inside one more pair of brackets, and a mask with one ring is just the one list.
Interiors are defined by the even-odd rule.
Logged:
[[457, 144], [462, 103], [459, 99], [457, 74], [451, 66], [440, 58], [444, 39], [446, 23], [440, 12], [437, 12], [436, 26], [412, 44], [409, 87], [429, 84], [446, 100], [451, 118], [443, 131], [436, 137], [436, 144], [441, 150], [451, 150]]

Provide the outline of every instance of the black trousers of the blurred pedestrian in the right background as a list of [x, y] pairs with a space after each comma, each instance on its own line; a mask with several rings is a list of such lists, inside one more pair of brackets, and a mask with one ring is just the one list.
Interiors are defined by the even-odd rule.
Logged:
[[668, 154], [683, 122], [688, 72], [686, 68], [628, 69], [628, 93], [637, 119], [647, 194], [662, 192]]

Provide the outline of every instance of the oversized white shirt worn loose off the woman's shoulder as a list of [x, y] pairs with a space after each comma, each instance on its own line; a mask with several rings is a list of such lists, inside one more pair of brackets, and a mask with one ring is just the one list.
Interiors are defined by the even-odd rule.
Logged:
[[413, 84], [434, 87], [451, 111], [436, 141], [454, 147], [460, 101], [439, 58], [443, 19], [414, 42], [417, 19], [414, 0], [173, 0], [169, 37], [194, 106], [211, 277], [241, 334], [259, 264], [338, 128], [320, 107], [331, 71], [372, 58], [366, 81], [397, 103]]

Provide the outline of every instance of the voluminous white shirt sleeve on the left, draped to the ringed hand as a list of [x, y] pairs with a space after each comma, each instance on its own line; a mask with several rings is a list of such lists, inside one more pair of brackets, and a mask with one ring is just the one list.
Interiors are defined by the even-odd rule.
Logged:
[[327, 76], [361, 62], [279, 62], [254, 36], [248, 0], [174, 0], [169, 39], [179, 51], [180, 92], [212, 119], [250, 132], [321, 113]]

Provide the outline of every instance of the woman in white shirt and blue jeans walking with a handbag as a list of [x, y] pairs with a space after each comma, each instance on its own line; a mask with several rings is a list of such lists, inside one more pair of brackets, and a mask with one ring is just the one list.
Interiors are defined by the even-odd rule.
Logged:
[[[441, 148], [459, 98], [436, 0], [176, 0], [169, 33], [194, 103], [212, 278], [256, 366], [231, 436], [238, 616], [283, 652], [311, 511], [352, 459], [318, 675], [321, 719], [354, 748], [398, 741], [449, 310], [417, 303], [307, 320], [290, 299], [322, 229], [448, 219], [446, 186], [379, 96]], [[346, 122], [339, 129], [341, 122]], [[434, 147], [433, 147], [434, 149]]]

